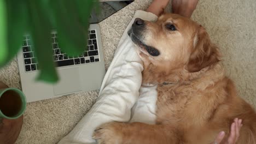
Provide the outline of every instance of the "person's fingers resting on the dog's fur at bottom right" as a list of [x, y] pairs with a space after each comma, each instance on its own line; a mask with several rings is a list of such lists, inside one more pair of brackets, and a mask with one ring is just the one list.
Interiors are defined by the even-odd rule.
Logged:
[[215, 141], [212, 142], [211, 144], [219, 144], [221, 142], [223, 144], [235, 144], [240, 135], [239, 132], [240, 132], [240, 129], [242, 126], [243, 126], [242, 119], [235, 118], [234, 122], [231, 124], [230, 135], [229, 135], [228, 139], [223, 141], [223, 139], [225, 137], [225, 132], [221, 131], [219, 133], [219, 135], [216, 137]]

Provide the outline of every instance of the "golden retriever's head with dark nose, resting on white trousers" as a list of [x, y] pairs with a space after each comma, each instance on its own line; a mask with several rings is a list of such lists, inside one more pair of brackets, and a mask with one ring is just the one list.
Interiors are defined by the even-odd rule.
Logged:
[[156, 22], [137, 18], [128, 34], [144, 67], [151, 64], [162, 73], [177, 69], [194, 73], [219, 61], [205, 29], [187, 17], [163, 14]]

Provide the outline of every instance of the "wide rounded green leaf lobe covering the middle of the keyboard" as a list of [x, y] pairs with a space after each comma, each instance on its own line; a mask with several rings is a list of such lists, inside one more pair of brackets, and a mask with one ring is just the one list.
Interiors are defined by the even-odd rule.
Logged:
[[68, 55], [79, 55], [86, 48], [92, 1], [50, 1], [59, 45]]

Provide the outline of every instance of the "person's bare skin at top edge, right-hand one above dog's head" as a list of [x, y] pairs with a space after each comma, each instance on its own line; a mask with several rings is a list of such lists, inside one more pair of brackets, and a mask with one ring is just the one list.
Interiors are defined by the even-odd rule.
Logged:
[[199, 0], [172, 0], [172, 12], [191, 17]]

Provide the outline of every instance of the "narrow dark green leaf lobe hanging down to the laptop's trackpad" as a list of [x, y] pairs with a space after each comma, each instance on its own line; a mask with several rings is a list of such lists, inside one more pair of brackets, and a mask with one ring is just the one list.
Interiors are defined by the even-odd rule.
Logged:
[[51, 22], [48, 1], [27, 0], [30, 10], [32, 41], [38, 59], [40, 73], [38, 80], [57, 82], [58, 77], [53, 62], [53, 48], [51, 45]]

